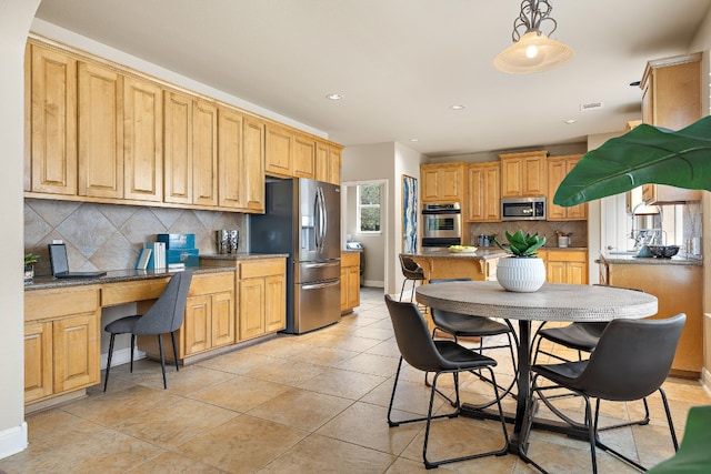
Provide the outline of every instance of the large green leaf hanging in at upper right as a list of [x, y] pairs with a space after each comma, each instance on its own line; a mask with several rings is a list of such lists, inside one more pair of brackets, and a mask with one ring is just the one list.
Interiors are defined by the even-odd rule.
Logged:
[[672, 132], [641, 124], [585, 153], [553, 203], [582, 204], [642, 184], [711, 191], [711, 115]]

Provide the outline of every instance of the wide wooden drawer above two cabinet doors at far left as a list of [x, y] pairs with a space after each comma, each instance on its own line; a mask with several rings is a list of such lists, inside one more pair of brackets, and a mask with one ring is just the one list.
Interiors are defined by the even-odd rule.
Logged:
[[24, 295], [24, 321], [47, 320], [70, 314], [93, 313], [99, 309], [99, 288], [37, 290]]

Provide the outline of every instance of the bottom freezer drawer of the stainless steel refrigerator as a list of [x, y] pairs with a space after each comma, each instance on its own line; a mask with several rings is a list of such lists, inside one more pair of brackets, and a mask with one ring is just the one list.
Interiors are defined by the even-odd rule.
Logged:
[[341, 319], [340, 280], [294, 285], [293, 332], [301, 334]]

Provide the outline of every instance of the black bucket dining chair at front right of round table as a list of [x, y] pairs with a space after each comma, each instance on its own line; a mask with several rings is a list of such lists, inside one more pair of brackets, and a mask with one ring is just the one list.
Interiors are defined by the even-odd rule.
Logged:
[[[639, 470], [645, 468], [600, 441], [598, 420], [600, 401], [631, 402], [659, 392], [667, 413], [667, 423], [674, 451], [679, 448], [667, 394], [662, 383], [669, 375], [681, 331], [687, 321], [683, 313], [664, 320], [611, 321], [585, 361], [560, 364], [535, 364], [531, 367], [531, 393], [541, 395], [547, 390], [568, 389], [580, 394], [585, 402], [584, 427], [590, 441], [593, 473], [598, 472], [595, 447], [600, 447]], [[539, 385], [548, 379], [554, 386]], [[590, 399], [595, 399], [594, 417]], [[554, 411], [559, 414], [560, 411]], [[565, 418], [567, 420], [567, 418]]]

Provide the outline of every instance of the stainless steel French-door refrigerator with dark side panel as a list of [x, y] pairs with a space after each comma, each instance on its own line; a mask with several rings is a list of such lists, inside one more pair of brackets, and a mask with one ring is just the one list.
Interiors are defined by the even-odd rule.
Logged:
[[340, 186], [303, 178], [270, 181], [266, 210], [250, 218], [250, 250], [289, 254], [286, 332], [301, 334], [338, 322]]

